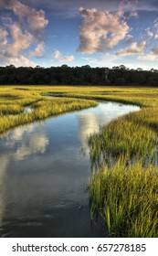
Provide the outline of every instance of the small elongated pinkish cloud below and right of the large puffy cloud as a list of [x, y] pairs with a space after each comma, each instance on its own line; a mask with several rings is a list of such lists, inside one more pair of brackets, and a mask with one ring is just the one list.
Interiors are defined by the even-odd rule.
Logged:
[[142, 54], [144, 50], [147, 48], [147, 42], [144, 40], [141, 43], [133, 42], [130, 47], [121, 48], [117, 51], [117, 55], [121, 56], [130, 56], [130, 55], [138, 55]]

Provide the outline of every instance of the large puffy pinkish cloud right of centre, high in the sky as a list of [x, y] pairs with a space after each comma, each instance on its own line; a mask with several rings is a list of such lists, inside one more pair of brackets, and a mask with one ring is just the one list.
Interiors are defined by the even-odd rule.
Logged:
[[79, 27], [82, 53], [102, 52], [118, 45], [130, 31], [123, 13], [111, 14], [93, 9], [79, 8], [83, 23]]

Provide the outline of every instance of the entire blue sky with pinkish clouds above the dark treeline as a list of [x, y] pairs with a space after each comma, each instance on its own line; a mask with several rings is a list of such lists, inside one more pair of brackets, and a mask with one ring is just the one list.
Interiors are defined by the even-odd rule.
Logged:
[[0, 66], [158, 69], [157, 0], [0, 0]]

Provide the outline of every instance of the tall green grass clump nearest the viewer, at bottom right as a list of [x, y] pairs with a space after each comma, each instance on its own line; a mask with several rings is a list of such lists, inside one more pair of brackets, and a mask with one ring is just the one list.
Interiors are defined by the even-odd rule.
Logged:
[[92, 176], [90, 202], [111, 237], [158, 237], [158, 167], [104, 166]]

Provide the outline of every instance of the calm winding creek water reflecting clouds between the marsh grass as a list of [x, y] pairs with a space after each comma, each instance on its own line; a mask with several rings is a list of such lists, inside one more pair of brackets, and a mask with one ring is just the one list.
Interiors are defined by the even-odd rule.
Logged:
[[16, 127], [0, 138], [1, 237], [103, 237], [90, 220], [87, 138], [139, 107], [100, 103]]

